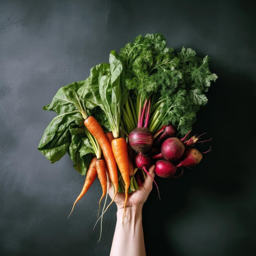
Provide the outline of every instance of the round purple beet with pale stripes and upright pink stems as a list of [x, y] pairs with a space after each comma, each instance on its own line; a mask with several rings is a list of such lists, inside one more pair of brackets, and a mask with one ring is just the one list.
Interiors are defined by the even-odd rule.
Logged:
[[154, 137], [147, 128], [135, 128], [130, 132], [128, 141], [136, 152], [144, 153], [152, 148]]

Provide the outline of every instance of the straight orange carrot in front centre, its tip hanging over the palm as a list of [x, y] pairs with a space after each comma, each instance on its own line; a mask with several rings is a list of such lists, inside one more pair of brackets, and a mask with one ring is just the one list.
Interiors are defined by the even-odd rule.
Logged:
[[125, 184], [125, 201], [124, 201], [124, 216], [126, 212], [126, 202], [128, 199], [128, 189], [130, 186], [129, 162], [127, 142], [124, 138], [113, 139], [111, 142], [112, 150], [117, 162], [117, 166], [122, 175]]

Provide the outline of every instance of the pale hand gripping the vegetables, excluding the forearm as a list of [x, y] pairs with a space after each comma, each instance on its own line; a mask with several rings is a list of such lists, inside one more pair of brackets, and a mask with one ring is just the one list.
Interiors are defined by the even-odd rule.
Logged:
[[[154, 178], [155, 177], [155, 165], [151, 165], [148, 168], [148, 172]], [[108, 183], [108, 194], [110, 198], [113, 199], [113, 190], [111, 186], [111, 182]], [[144, 202], [146, 202], [150, 191], [153, 188], [153, 180], [149, 175], [146, 174], [146, 179], [143, 182], [143, 185], [137, 189], [136, 191], [129, 193], [128, 199], [126, 202], [126, 208], [128, 207], [135, 207], [135, 208], [142, 208]], [[115, 203], [117, 204], [117, 209], [124, 208], [124, 200], [125, 200], [125, 193], [117, 193], [115, 198]]]

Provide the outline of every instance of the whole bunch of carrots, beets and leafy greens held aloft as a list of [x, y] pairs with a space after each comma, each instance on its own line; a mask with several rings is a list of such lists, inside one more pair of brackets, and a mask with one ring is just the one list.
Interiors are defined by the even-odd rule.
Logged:
[[110, 204], [124, 192], [125, 207], [128, 193], [139, 189], [151, 164], [159, 177], [169, 178], [176, 177], [177, 168], [201, 161], [194, 147], [200, 137], [190, 132], [207, 103], [205, 92], [217, 79], [209, 60], [190, 48], [174, 51], [162, 34], [140, 35], [119, 54], [110, 52], [109, 63], [92, 67], [86, 80], [58, 90], [43, 108], [57, 116], [38, 150], [51, 163], [68, 153], [74, 168], [86, 175], [74, 206], [96, 177], [102, 186], [99, 202], [109, 179], [115, 191]]

